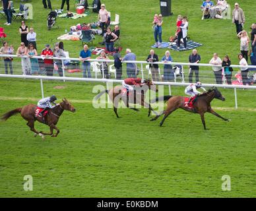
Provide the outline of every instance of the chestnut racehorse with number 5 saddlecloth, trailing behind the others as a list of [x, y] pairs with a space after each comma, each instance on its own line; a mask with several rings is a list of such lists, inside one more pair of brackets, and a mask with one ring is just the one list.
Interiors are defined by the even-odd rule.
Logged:
[[[7, 119], [9, 119], [9, 117], [15, 115], [16, 113], [20, 113], [20, 115], [23, 117], [23, 119], [28, 121], [28, 123], [26, 123], [26, 125], [28, 125], [28, 127], [30, 127], [30, 131], [33, 131], [35, 133], [34, 136], [40, 135], [44, 139], [44, 135], [50, 135], [52, 137], [56, 137], [59, 134], [59, 129], [56, 127], [56, 125], [57, 125], [57, 122], [59, 121], [59, 117], [61, 116], [61, 114], [63, 113], [64, 110], [72, 111], [72, 112], [76, 111], [75, 107], [72, 106], [67, 101], [66, 98], [64, 98], [64, 100], [62, 100], [62, 102], [59, 105], [53, 107], [52, 109], [49, 109], [49, 111], [46, 114], [46, 116], [44, 117], [44, 119], [43, 119], [43, 117], [35, 116], [36, 109], [37, 109], [37, 106], [34, 104], [29, 104], [24, 107], [18, 107], [16, 109], [13, 109], [12, 111], [5, 113], [1, 117], [1, 119], [6, 121]], [[40, 123], [44, 123], [44, 124], [48, 125], [49, 129], [50, 129], [50, 133], [36, 131], [36, 129], [34, 128], [35, 121], [39, 121]], [[55, 135], [53, 135], [53, 129], [55, 129], [57, 131], [57, 133]]]

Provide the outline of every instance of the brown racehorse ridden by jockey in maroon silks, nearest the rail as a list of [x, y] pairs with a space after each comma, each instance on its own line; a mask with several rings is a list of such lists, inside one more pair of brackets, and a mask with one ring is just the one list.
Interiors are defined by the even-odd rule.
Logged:
[[[133, 109], [135, 111], [139, 111], [139, 109], [135, 107], [129, 107], [129, 103], [140, 104], [141, 106], [147, 107], [148, 117], [149, 117], [151, 111], [153, 111], [154, 113], [156, 113], [156, 111], [152, 109], [150, 104], [145, 102], [145, 95], [148, 89], [153, 90], [154, 92], [158, 92], [158, 89], [156, 88], [156, 85], [154, 85], [154, 82], [152, 82], [152, 80], [145, 80], [145, 84], [141, 86], [141, 88], [139, 88], [141, 93], [138, 92], [138, 88], [135, 88], [134, 92], [130, 92], [129, 95], [127, 94], [123, 95], [122, 94], [123, 86], [115, 86], [110, 90], [103, 90], [94, 98], [94, 100], [98, 100], [98, 98], [100, 98], [102, 94], [107, 93], [110, 96], [110, 100], [113, 102], [113, 111], [115, 112], [115, 115], [117, 118], [119, 118], [119, 115], [117, 113], [117, 107], [120, 99], [125, 103], [126, 107]], [[158, 115], [158, 113], [156, 113], [156, 115]]]

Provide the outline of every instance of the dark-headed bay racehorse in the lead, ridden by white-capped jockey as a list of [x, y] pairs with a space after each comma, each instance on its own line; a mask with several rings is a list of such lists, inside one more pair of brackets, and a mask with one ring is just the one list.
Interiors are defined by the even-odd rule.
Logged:
[[[167, 108], [165, 111], [162, 111], [160, 115], [164, 115], [164, 118], [162, 119], [160, 126], [163, 125], [164, 120], [170, 115], [173, 111], [175, 111], [178, 108], [184, 109], [185, 111], [193, 112], [193, 113], [199, 113], [201, 116], [201, 120], [204, 126], [204, 129], [206, 130], [205, 127], [205, 113], [209, 112], [215, 115], [216, 117], [219, 117], [223, 119], [224, 121], [230, 121], [230, 119], [226, 119], [216, 113], [212, 107], [210, 106], [210, 102], [214, 99], [222, 100], [225, 101], [224, 96], [220, 93], [220, 91], [216, 87], [212, 87], [208, 90], [208, 92], [204, 92], [203, 94], [197, 96], [197, 99], [195, 100], [195, 103], [193, 104], [193, 109], [186, 107], [185, 106], [185, 97], [183, 96], [164, 96], [162, 97], [162, 100], [166, 101], [168, 100], [167, 103]], [[159, 101], [159, 98], [156, 98], [152, 100], [151, 102], [157, 102]], [[150, 121], [155, 121], [160, 117], [160, 115], [157, 115], [156, 117], [152, 118]]]

